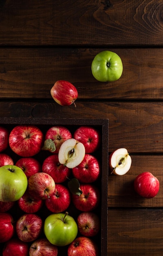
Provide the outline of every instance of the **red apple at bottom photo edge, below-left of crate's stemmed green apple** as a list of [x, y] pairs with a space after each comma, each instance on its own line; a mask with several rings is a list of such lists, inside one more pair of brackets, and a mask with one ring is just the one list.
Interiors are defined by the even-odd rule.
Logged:
[[48, 239], [39, 238], [29, 248], [29, 256], [57, 256], [58, 248], [52, 245]]

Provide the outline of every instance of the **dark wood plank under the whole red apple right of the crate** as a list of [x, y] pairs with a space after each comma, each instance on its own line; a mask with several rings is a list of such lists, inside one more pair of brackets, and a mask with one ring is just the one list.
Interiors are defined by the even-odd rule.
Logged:
[[[109, 174], [108, 207], [162, 207], [163, 206], [163, 175], [162, 155], [132, 155], [132, 166], [128, 173], [122, 176]], [[158, 194], [151, 199], [145, 199], [134, 191], [134, 179], [140, 173], [151, 172], [160, 182]]]

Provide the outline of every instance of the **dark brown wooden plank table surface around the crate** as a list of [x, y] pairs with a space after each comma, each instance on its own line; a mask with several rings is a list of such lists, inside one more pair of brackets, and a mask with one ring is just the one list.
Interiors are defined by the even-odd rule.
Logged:
[[[108, 118], [109, 153], [132, 157], [108, 179], [108, 256], [163, 253], [162, 46], [162, 0], [0, 1], [0, 117]], [[118, 81], [94, 79], [102, 50], [121, 57]], [[53, 101], [59, 79], [77, 88], [76, 108]], [[160, 181], [155, 198], [133, 190], [143, 171]]]

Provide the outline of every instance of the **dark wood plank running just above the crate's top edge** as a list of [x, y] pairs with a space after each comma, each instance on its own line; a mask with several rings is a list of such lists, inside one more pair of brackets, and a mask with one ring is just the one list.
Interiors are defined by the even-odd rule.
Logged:
[[163, 102], [0, 101], [1, 117], [108, 118], [109, 152], [125, 147], [131, 154], [163, 153]]

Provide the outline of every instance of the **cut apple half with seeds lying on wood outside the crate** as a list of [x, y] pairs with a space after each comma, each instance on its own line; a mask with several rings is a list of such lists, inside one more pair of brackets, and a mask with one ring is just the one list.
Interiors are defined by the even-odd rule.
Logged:
[[126, 174], [131, 167], [132, 159], [126, 148], [118, 148], [109, 156], [109, 168], [116, 175]]

